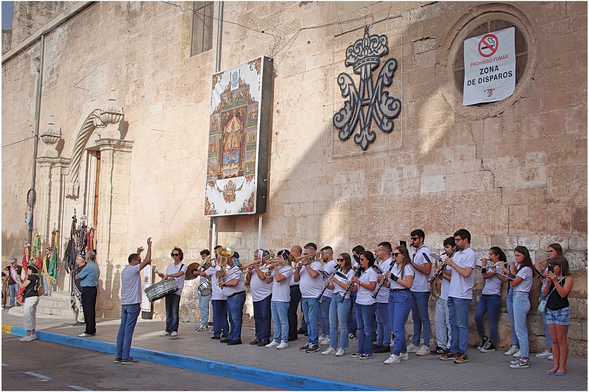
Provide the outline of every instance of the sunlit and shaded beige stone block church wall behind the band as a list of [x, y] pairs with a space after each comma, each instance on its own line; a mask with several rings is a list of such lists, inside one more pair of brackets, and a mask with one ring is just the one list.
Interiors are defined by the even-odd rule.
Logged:
[[[471, 19], [493, 12], [522, 21], [530, 61], [514, 96], [492, 108], [463, 108], [448, 79], [455, 36]], [[334, 91], [334, 73], [351, 70], [333, 64], [334, 46], [348, 45], [334, 35], [352, 28], [361, 33], [366, 22], [397, 14], [402, 25], [401, 18], [390, 23], [402, 35], [391, 38], [389, 56], [399, 61], [391, 93], [401, 96], [402, 88], [403, 109], [391, 137], [401, 146], [336, 156], [340, 141], [332, 117], [344, 99]], [[587, 4], [226, 2], [224, 19], [258, 32], [225, 24], [221, 69], [268, 55], [275, 74], [262, 237], [257, 216], [221, 217], [220, 244], [247, 261], [259, 241], [273, 250], [313, 241], [350, 252], [356, 244], [372, 249], [382, 240], [406, 240], [416, 228], [436, 249], [465, 227], [479, 255], [500, 246], [511, 256], [519, 244], [543, 259], [547, 245], [559, 242], [575, 271], [571, 353], [586, 355]], [[384, 32], [380, 23], [372, 33]], [[323, 27], [299, 30], [310, 26]], [[350, 33], [349, 40], [358, 34]], [[190, 57], [190, 15], [161, 2], [97, 2], [49, 33], [46, 48], [41, 118], [54, 113], [63, 134], [61, 155], [71, 158], [81, 122], [88, 110], [104, 107], [111, 87], [124, 107], [121, 135], [134, 141], [129, 171], [123, 165], [124, 177], [113, 179], [121, 195], [112, 211], [117, 227], [109, 249], [98, 249], [104, 272], [99, 307], [105, 315], [117, 314], [120, 269], [147, 237], [153, 237], [159, 268], [170, 263], [176, 245], [185, 263], [199, 260], [198, 252], [209, 247], [203, 189], [214, 49]], [[34, 129], [38, 50], [37, 43], [3, 59], [2, 118], [13, 125], [3, 124], [3, 144]], [[22, 252], [31, 148], [23, 142], [3, 149], [3, 260]], [[69, 230], [73, 207], [89, 205], [81, 199], [94, 193], [84, 195], [64, 197], [62, 233]], [[110, 256], [104, 260], [101, 253]], [[181, 303], [187, 321], [200, 319], [194, 289], [187, 283]], [[481, 289], [477, 276], [475, 296]], [[532, 309], [538, 295], [534, 286]], [[163, 303], [156, 303], [155, 316], [164, 312]], [[252, 314], [250, 307], [246, 313]], [[543, 349], [535, 310], [528, 323], [532, 349]], [[474, 325], [471, 334], [475, 339]], [[501, 346], [510, 339], [502, 311]]]

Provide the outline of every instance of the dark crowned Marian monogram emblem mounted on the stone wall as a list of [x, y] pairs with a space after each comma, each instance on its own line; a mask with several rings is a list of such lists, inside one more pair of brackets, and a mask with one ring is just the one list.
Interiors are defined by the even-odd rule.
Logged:
[[352, 65], [354, 73], [360, 75], [358, 89], [350, 75], [342, 72], [337, 76], [337, 85], [342, 91], [342, 97], [349, 97], [343, 103], [343, 108], [333, 115], [333, 126], [339, 129], [337, 136], [340, 140], [348, 140], [360, 123], [360, 131], [354, 135], [354, 142], [365, 151], [376, 138], [376, 133], [370, 130], [372, 120], [383, 132], [391, 132], [395, 124], [393, 119], [401, 113], [401, 100], [389, 96], [383, 91], [390, 86], [397, 69], [397, 61], [388, 59], [380, 69], [376, 83], [372, 82], [372, 71], [380, 64], [380, 57], [389, 52], [388, 37], [386, 35], [370, 35], [366, 26], [364, 36], [346, 49], [346, 66]]

